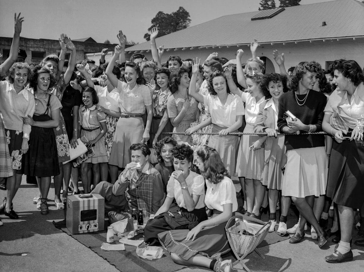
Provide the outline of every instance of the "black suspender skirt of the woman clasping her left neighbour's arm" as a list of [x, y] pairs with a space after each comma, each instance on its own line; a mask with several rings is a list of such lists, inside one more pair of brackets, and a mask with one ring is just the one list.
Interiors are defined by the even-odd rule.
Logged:
[[[34, 115], [33, 119], [47, 121], [49, 120], [47, 116]], [[53, 128], [32, 127], [29, 136], [29, 150], [23, 159], [25, 175], [37, 177], [59, 175], [57, 145]]]

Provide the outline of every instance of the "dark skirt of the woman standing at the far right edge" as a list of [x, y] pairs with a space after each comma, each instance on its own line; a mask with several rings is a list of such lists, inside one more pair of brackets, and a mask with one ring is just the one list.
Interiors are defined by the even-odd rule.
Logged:
[[[344, 135], [345, 136], [345, 135]], [[350, 136], [350, 135], [348, 135]], [[364, 148], [360, 141], [332, 143], [327, 196], [339, 205], [360, 209], [364, 203]]]

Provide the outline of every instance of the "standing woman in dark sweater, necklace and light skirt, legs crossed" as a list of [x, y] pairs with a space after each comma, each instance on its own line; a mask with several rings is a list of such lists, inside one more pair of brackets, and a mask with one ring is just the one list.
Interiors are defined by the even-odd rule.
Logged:
[[[312, 90], [321, 65], [312, 61], [299, 63], [289, 82], [290, 92], [279, 99], [278, 129], [285, 136], [287, 164], [283, 176], [282, 195], [291, 196], [301, 214], [300, 224], [290, 243], [304, 238], [304, 226], [308, 221], [317, 232], [318, 247], [326, 243], [326, 233], [320, 227], [312, 207], [315, 196], [325, 194], [328, 160], [324, 135], [300, 135], [322, 131], [326, 96]], [[285, 113], [290, 111], [296, 118]]]

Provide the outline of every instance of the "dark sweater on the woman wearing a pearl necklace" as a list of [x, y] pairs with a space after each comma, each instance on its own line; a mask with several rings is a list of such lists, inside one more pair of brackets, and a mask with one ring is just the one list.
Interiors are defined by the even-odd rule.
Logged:
[[[302, 100], [306, 95], [297, 95]], [[290, 91], [282, 94], [279, 98], [278, 107], [278, 130], [283, 133], [282, 129], [287, 127], [284, 113], [288, 110], [293, 113], [305, 125], [316, 125], [316, 131], [322, 131], [322, 121], [324, 119], [324, 108], [327, 98], [323, 93], [310, 90], [302, 106], [298, 105], [295, 92]], [[302, 102], [300, 102], [302, 103]], [[306, 131], [300, 131], [305, 133]], [[298, 148], [324, 147], [325, 135], [286, 135], [285, 145], [287, 150]]]

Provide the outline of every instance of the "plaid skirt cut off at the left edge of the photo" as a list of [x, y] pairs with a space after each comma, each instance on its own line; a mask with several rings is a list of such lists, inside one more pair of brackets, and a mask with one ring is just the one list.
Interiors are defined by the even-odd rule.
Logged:
[[0, 116], [0, 177], [11, 177], [13, 175], [12, 159], [8, 146], [10, 144], [9, 140], [6, 137], [3, 119]]

